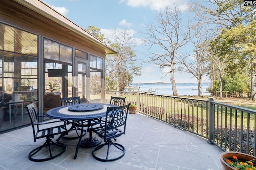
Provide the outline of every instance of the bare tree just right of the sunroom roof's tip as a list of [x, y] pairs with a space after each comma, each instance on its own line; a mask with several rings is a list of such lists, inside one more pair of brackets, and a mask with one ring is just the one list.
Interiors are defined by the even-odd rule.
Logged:
[[136, 64], [137, 57], [133, 51], [133, 36], [127, 29], [114, 30], [113, 44], [110, 45], [117, 51], [116, 55], [109, 55], [108, 77], [116, 81], [116, 90], [124, 90], [124, 87], [132, 81], [133, 75], [140, 75], [141, 65]]

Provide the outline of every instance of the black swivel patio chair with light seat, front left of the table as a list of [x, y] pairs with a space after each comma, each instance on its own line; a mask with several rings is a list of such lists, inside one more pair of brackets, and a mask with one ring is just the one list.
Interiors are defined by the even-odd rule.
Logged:
[[64, 153], [66, 151], [66, 145], [59, 142], [55, 143], [52, 141], [52, 138], [54, 135], [60, 135], [61, 137], [61, 135], [68, 133], [68, 130], [66, 129], [66, 122], [57, 120], [39, 123], [38, 117], [40, 117], [40, 115], [37, 115], [34, 104], [30, 103], [25, 106], [25, 108], [28, 111], [28, 115], [32, 124], [34, 142], [36, 142], [36, 139], [46, 138], [46, 142], [36, 149], [33, 149], [28, 154], [28, 158], [35, 162], [42, 162], [56, 158], [57, 156]]

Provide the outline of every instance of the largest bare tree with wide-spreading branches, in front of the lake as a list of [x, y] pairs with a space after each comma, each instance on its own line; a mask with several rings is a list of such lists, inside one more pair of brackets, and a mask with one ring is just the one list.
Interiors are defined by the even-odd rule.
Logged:
[[[174, 79], [175, 57], [177, 50], [190, 40], [188, 32], [183, 32], [181, 22], [182, 12], [174, 5], [173, 8], [167, 7], [159, 12], [155, 21], [146, 25], [146, 30], [143, 32], [146, 35], [144, 41], [148, 45], [146, 51], [149, 53], [146, 62], [156, 64], [160, 68], [166, 66], [170, 68], [170, 82], [174, 96], [178, 96]], [[156, 49], [159, 47], [161, 52], [158, 53]]]

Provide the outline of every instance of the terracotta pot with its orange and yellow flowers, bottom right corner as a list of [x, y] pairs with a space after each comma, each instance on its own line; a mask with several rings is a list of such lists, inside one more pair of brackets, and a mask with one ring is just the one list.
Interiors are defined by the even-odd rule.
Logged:
[[222, 170], [255, 170], [256, 157], [241, 152], [223, 152], [220, 154]]

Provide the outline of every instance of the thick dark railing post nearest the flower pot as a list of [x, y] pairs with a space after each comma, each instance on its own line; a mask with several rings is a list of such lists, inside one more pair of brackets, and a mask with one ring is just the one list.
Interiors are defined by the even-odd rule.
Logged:
[[212, 104], [212, 101], [214, 101], [213, 98], [208, 99], [208, 108], [209, 108], [209, 137], [208, 137], [208, 143], [213, 144], [212, 141], [214, 141], [214, 126], [215, 126], [215, 111], [214, 111], [214, 104]]

